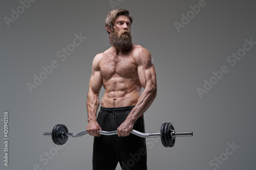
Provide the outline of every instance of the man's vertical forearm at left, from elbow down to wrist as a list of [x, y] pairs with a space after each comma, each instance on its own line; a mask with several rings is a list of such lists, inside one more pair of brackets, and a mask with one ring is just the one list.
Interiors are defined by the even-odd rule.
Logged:
[[87, 94], [88, 122], [96, 121], [97, 110], [99, 107], [99, 94], [89, 90]]

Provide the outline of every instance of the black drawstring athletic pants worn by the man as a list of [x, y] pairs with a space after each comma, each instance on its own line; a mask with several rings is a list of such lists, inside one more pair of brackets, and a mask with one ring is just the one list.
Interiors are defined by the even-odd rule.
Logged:
[[[102, 131], [117, 130], [133, 107], [100, 107], [97, 122]], [[145, 133], [143, 115], [136, 120], [133, 129]], [[122, 169], [147, 169], [145, 138], [134, 134], [94, 137], [93, 169], [115, 169], [118, 162]]]

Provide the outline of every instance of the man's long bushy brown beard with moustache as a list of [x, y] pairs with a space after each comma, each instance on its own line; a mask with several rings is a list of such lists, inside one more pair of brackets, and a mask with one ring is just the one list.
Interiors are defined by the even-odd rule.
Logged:
[[114, 31], [110, 35], [109, 43], [120, 49], [129, 49], [132, 47], [132, 35], [129, 30], [123, 30], [120, 33]]

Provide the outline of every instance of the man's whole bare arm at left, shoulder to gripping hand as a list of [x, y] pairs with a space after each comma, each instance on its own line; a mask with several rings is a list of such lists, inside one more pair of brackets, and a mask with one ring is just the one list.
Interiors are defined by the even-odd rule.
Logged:
[[88, 112], [88, 125], [87, 132], [92, 136], [100, 136], [101, 130], [96, 120], [97, 110], [99, 107], [99, 92], [102, 86], [102, 76], [100, 73], [100, 60], [103, 54], [98, 54], [94, 57], [92, 64], [92, 75], [89, 82], [89, 90], [87, 93], [87, 112]]

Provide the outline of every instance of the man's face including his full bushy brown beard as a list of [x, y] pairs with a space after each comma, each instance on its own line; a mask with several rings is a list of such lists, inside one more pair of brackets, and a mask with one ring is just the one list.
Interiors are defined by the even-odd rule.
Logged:
[[132, 46], [131, 22], [129, 17], [119, 15], [114, 22], [114, 32], [110, 33], [110, 44], [118, 48]]

